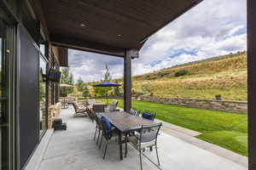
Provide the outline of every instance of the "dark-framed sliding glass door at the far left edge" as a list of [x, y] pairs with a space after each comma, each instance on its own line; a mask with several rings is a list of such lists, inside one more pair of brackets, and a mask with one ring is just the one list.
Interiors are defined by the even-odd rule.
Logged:
[[0, 16], [0, 169], [9, 169], [9, 28]]

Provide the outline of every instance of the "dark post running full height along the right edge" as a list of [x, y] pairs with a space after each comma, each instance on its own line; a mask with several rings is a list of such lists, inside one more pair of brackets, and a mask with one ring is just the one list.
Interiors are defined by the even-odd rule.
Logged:
[[256, 170], [256, 1], [247, 0], [248, 163]]

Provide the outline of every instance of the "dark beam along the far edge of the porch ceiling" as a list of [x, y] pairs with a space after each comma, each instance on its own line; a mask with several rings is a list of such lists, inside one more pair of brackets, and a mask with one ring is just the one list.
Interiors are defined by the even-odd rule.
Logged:
[[50, 42], [52, 45], [57, 47], [73, 48], [97, 54], [108, 54], [117, 57], [125, 57], [124, 48], [111, 47], [102, 43], [87, 42], [62, 35], [50, 35]]

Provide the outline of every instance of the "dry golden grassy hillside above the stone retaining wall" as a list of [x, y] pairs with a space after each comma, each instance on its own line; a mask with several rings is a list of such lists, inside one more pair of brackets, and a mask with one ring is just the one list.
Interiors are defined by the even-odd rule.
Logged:
[[[188, 74], [175, 77], [178, 71]], [[122, 82], [122, 79], [118, 79]], [[92, 91], [92, 90], [90, 90]], [[133, 95], [247, 100], [247, 54], [228, 54], [132, 77]]]

